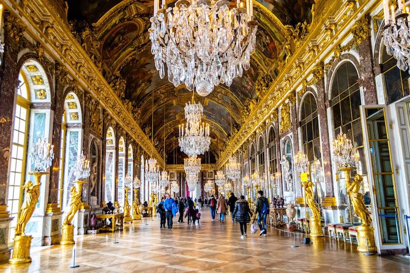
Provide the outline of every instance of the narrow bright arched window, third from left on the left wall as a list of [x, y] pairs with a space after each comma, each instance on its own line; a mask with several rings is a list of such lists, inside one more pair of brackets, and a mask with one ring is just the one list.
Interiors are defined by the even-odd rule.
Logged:
[[115, 135], [112, 127], [109, 127], [106, 135], [106, 185], [105, 196], [106, 202], [114, 203], [114, 175], [115, 175]]

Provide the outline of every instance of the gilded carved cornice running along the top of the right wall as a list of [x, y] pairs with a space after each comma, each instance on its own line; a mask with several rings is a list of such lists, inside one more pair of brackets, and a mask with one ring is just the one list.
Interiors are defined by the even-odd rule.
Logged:
[[380, 3], [377, 0], [359, 0], [358, 3], [357, 8], [349, 0], [326, 0], [327, 9], [322, 12], [323, 15], [320, 18], [314, 21], [314, 25], [309, 27], [308, 37], [292, 54], [287, 65], [274, 79], [267, 94], [260, 98], [239, 132], [220, 154], [218, 166], [226, 163], [229, 156], [252, 137], [260, 123], [269, 118], [272, 112], [288, 99], [288, 94], [292, 90], [300, 85], [306, 85], [306, 79], [312, 78], [313, 68], [316, 68], [313, 79], [323, 75], [323, 64], [320, 62], [333, 54], [334, 45], [340, 44], [348, 35], [365, 38], [368, 32], [366, 27], [362, 26], [363, 14], [369, 13]]

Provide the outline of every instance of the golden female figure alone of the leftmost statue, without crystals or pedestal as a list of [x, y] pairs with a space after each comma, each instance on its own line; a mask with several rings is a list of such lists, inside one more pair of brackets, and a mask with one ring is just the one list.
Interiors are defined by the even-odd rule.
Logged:
[[34, 212], [35, 205], [38, 202], [38, 196], [40, 193], [40, 183], [33, 185], [33, 182], [28, 181], [24, 186], [26, 194], [24, 195], [24, 202], [22, 205], [22, 211], [18, 218], [15, 235], [24, 235], [27, 222], [30, 220], [31, 215]]

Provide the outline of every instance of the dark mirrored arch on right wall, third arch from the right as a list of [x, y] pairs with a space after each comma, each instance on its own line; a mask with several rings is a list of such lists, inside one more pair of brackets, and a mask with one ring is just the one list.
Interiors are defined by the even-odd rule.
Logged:
[[314, 161], [321, 160], [319, 118], [316, 100], [312, 93], [306, 94], [303, 98], [300, 111], [302, 148], [312, 165]]

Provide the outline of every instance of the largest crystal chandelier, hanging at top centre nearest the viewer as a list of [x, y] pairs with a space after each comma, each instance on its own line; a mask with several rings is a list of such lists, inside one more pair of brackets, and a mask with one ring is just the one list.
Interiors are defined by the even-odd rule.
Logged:
[[151, 17], [151, 53], [159, 77], [165, 76], [175, 87], [185, 83], [201, 96], [209, 95], [219, 83], [230, 86], [233, 78], [250, 68], [255, 51], [258, 23], [253, 20], [253, 0], [242, 8], [219, 0], [180, 0], [167, 8], [154, 0]]

